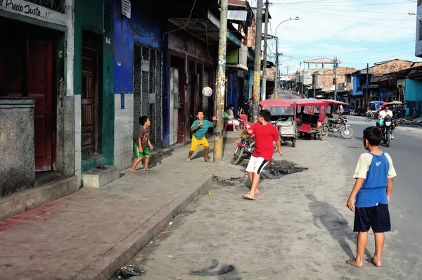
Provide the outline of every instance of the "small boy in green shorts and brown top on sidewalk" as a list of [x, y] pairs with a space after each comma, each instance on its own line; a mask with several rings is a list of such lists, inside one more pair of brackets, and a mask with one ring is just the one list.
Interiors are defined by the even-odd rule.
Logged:
[[138, 172], [136, 170], [136, 166], [138, 166], [139, 163], [141, 163], [143, 156], [145, 156], [145, 163], [143, 164], [143, 170], [151, 171], [148, 168], [148, 163], [151, 156], [150, 150], [154, 148], [153, 145], [151, 145], [151, 142], [149, 139], [148, 127], [151, 125], [149, 118], [146, 115], [139, 117], [139, 125], [141, 125], [141, 127], [138, 130], [138, 137], [136, 137], [136, 142], [134, 145], [136, 160], [134, 162], [134, 165], [130, 169], [130, 172], [134, 172], [134, 173]]

